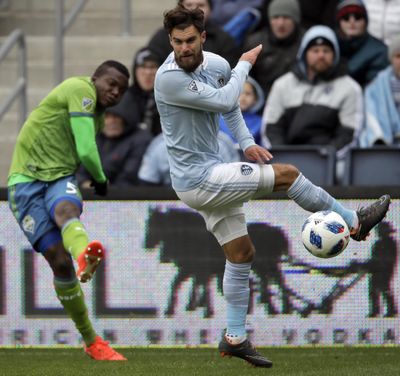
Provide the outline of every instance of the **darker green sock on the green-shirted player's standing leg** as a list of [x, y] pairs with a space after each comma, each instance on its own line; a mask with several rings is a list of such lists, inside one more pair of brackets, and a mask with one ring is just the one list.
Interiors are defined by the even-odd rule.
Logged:
[[97, 334], [89, 320], [83, 291], [78, 280], [75, 279], [65, 282], [59, 279], [54, 279], [54, 288], [58, 299], [69, 317], [75, 323], [75, 326], [82, 335], [86, 345], [91, 345]]

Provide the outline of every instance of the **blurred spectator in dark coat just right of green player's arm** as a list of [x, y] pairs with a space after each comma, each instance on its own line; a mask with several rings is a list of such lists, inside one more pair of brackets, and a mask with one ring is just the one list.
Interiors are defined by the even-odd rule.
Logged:
[[[138, 127], [134, 115], [126, 94], [119, 104], [105, 111], [104, 128], [96, 142], [110, 186], [129, 187], [138, 183], [140, 163], [152, 136]], [[90, 186], [90, 175], [83, 166], [77, 179], [82, 188]]]

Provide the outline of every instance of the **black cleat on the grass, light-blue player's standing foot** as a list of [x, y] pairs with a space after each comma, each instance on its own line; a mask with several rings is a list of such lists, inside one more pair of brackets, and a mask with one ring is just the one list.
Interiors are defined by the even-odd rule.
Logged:
[[231, 345], [224, 336], [218, 345], [218, 350], [223, 357], [236, 356], [237, 358], [250, 363], [254, 367], [272, 367], [272, 362], [258, 353], [251, 342], [247, 339], [239, 345]]

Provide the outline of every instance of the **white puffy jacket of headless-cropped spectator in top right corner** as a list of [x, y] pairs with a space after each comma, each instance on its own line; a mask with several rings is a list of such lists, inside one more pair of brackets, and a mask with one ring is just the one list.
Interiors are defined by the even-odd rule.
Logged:
[[368, 31], [390, 45], [400, 35], [400, 0], [364, 0], [368, 12]]

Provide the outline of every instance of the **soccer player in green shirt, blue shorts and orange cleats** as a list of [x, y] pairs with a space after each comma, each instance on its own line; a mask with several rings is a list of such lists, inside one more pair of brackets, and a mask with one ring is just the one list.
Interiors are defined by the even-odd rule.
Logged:
[[99, 241], [89, 241], [79, 219], [82, 197], [74, 174], [82, 163], [95, 193], [107, 194], [95, 135], [104, 109], [120, 101], [128, 82], [127, 68], [108, 60], [92, 77], [72, 77], [55, 87], [22, 127], [8, 176], [10, 208], [50, 265], [57, 297], [82, 335], [86, 353], [96, 360], [126, 358], [96, 334], [88, 317], [79, 282], [91, 279], [104, 249]]

